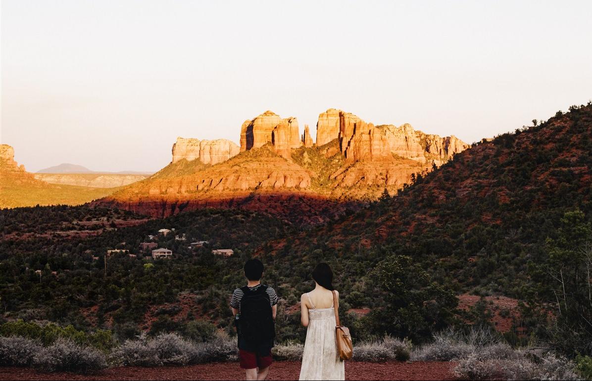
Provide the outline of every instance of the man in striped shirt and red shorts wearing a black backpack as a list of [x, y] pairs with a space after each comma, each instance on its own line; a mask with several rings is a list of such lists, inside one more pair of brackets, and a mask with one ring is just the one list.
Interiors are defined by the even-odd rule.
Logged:
[[247, 380], [265, 380], [272, 363], [278, 295], [261, 284], [263, 263], [259, 259], [244, 263], [244, 276], [247, 285], [234, 290], [230, 301], [239, 337], [240, 367], [246, 370]]

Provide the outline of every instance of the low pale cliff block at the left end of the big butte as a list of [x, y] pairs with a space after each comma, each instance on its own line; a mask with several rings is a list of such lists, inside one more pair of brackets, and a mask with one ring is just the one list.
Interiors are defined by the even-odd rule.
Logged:
[[239, 146], [226, 139], [199, 140], [177, 138], [173, 144], [173, 161], [200, 159], [204, 164], [218, 164], [239, 154]]

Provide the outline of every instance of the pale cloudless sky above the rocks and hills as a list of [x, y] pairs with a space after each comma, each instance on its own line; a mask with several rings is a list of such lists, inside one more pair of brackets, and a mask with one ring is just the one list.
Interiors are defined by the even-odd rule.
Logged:
[[0, 141], [28, 171], [157, 171], [177, 136], [338, 108], [466, 142], [592, 100], [592, 1], [0, 3]]

